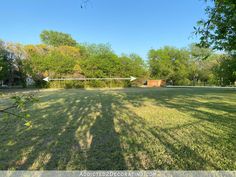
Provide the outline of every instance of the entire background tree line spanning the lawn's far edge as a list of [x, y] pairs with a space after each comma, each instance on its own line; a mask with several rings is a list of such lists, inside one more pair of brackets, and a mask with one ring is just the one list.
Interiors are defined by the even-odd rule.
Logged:
[[22, 45], [0, 41], [1, 85], [36, 87], [116, 87], [131, 86], [128, 81], [54, 81], [44, 77], [137, 77], [133, 85], [147, 79], [164, 79], [173, 85], [233, 85], [235, 57], [217, 54], [210, 48], [192, 44], [178, 49], [165, 46], [151, 49], [148, 60], [137, 54], [118, 56], [108, 44], [81, 44], [71, 35], [43, 31], [42, 44]]

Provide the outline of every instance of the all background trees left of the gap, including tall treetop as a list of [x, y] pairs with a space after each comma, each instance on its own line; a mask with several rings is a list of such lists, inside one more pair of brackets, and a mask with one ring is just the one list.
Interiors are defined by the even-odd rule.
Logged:
[[43, 31], [42, 44], [21, 45], [0, 42], [0, 80], [7, 85], [26, 86], [32, 78], [37, 87], [130, 86], [128, 81], [55, 81], [44, 77], [129, 77], [148, 76], [143, 59], [136, 55], [118, 56], [108, 44], [79, 44], [69, 34]]

